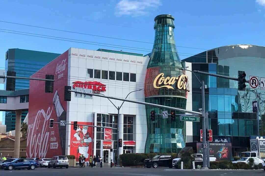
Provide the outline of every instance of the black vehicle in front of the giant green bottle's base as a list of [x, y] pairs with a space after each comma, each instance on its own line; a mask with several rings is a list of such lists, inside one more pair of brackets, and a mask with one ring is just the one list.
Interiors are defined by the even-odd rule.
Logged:
[[172, 168], [172, 156], [171, 155], [156, 155], [152, 159], [145, 159], [144, 165], [147, 168], [157, 168], [158, 166], [164, 166]]

